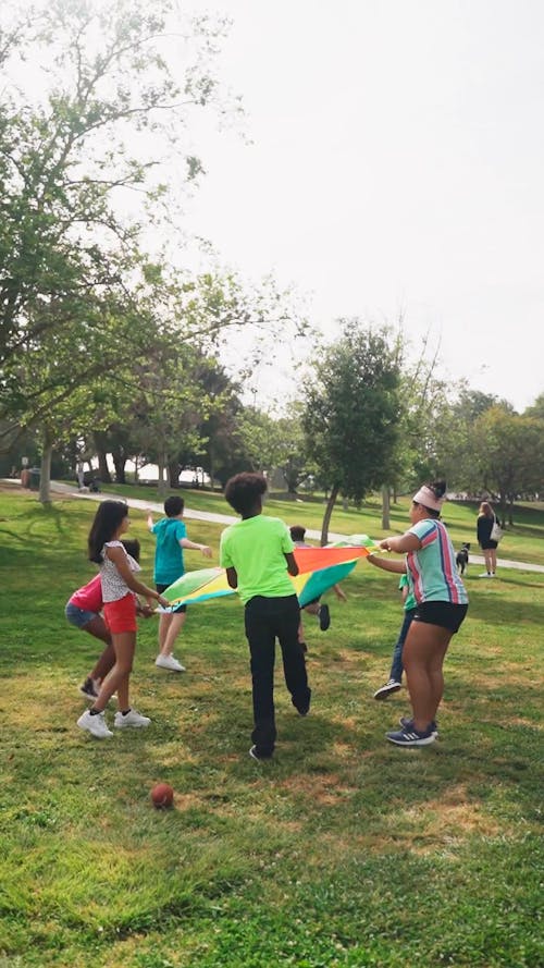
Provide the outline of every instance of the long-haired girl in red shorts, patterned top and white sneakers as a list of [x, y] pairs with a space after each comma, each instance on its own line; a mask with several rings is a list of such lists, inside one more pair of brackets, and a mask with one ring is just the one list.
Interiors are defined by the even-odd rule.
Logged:
[[119, 711], [113, 725], [118, 730], [148, 726], [151, 722], [132, 709], [128, 700], [128, 683], [136, 648], [136, 595], [145, 596], [148, 601], [154, 599], [166, 608], [169, 605], [166, 599], [136, 578], [140, 567], [127, 554], [120, 540], [128, 526], [128, 506], [123, 501], [102, 501], [88, 538], [89, 560], [100, 565], [103, 617], [115, 652], [115, 664], [103, 681], [98, 699], [77, 720], [81, 730], [87, 730], [98, 739], [113, 735], [106, 724], [104, 709], [115, 691]]

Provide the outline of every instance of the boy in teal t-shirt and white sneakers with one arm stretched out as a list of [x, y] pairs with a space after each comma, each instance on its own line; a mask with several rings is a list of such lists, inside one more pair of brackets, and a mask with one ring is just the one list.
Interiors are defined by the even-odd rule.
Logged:
[[[159, 595], [177, 581], [185, 574], [183, 549], [190, 548], [201, 551], [205, 557], [211, 557], [211, 548], [207, 544], [195, 544], [187, 538], [187, 528], [182, 520], [183, 498], [175, 494], [164, 501], [164, 513], [153, 524], [151, 512], [147, 515], [147, 526], [157, 538], [154, 551], [153, 581]], [[181, 605], [176, 612], [162, 612], [159, 620], [159, 654], [154, 664], [170, 672], [185, 672], [185, 666], [173, 654], [174, 642], [180, 635], [186, 616], [187, 606]]]

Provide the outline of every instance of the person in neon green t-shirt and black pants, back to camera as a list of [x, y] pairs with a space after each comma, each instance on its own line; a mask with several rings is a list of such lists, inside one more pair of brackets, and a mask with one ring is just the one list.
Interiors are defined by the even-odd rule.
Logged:
[[270, 759], [276, 738], [274, 718], [275, 640], [280, 641], [285, 683], [300, 715], [310, 709], [306, 662], [298, 642], [299, 604], [289, 575], [298, 575], [286, 525], [262, 515], [267, 481], [261, 474], [237, 474], [225, 498], [242, 520], [221, 536], [220, 564], [231, 588], [245, 604], [245, 629], [251, 655], [255, 728], [249, 756]]

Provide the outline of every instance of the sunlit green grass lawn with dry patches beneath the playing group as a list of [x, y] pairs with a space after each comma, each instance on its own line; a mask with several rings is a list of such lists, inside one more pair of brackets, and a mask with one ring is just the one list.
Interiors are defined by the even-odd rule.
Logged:
[[[220, 495], [185, 497], [227, 512]], [[319, 527], [323, 506], [267, 510]], [[277, 671], [271, 763], [248, 757], [234, 599], [189, 610], [182, 676], [154, 667], [156, 622], [141, 623], [134, 699], [152, 725], [99, 743], [75, 725], [97, 648], [63, 615], [92, 575], [94, 511], [0, 492], [0, 968], [542, 966], [544, 575], [502, 569], [487, 583], [469, 566], [431, 747], [384, 740], [408, 709], [404, 691], [372, 699], [401, 611], [395, 577], [364, 563], [348, 601], [330, 598], [326, 634], [308, 616], [307, 719]], [[153, 542], [132, 516], [150, 580]], [[475, 540], [475, 508], [447, 505], [445, 517], [456, 543]], [[218, 549], [220, 526], [188, 529]], [[380, 537], [380, 508], [338, 511], [332, 529]], [[543, 535], [544, 513], [521, 508], [500, 556], [544, 563]], [[158, 781], [174, 787], [173, 810], [150, 805]]]

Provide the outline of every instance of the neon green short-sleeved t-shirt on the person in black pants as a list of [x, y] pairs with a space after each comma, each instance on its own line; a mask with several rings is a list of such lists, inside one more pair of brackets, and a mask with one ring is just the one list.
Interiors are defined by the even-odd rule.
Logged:
[[256, 595], [264, 598], [295, 595], [285, 561], [285, 554], [293, 549], [283, 520], [257, 514], [225, 528], [219, 560], [222, 568], [236, 568], [238, 595], [245, 604]]

